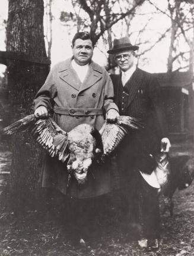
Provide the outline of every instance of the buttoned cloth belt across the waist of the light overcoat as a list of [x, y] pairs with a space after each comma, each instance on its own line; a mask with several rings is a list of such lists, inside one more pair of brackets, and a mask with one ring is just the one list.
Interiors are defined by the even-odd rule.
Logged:
[[101, 108], [61, 108], [55, 106], [53, 111], [62, 115], [103, 115]]

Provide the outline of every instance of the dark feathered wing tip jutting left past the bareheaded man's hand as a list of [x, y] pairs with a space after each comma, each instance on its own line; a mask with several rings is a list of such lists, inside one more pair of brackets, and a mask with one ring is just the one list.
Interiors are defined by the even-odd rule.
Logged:
[[36, 117], [34, 114], [27, 115], [27, 117], [21, 118], [15, 123], [10, 124], [9, 126], [5, 127], [1, 130], [1, 133], [11, 135], [15, 132], [21, 132], [26, 130], [30, 127], [31, 124], [34, 124], [36, 121]]

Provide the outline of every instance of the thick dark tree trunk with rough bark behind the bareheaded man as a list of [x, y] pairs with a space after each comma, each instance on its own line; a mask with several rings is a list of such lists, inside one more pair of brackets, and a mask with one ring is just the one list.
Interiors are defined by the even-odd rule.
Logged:
[[[8, 60], [8, 89], [11, 105], [10, 123], [33, 113], [33, 98], [49, 72], [48, 64], [34, 63], [31, 57], [45, 58], [43, 32], [43, 0], [9, 0], [7, 22], [7, 51], [27, 55], [29, 61]], [[40, 149], [27, 132], [12, 137], [11, 188], [21, 202], [37, 191], [40, 170]], [[31, 193], [33, 192], [33, 193]], [[20, 210], [24, 205], [15, 210]]]

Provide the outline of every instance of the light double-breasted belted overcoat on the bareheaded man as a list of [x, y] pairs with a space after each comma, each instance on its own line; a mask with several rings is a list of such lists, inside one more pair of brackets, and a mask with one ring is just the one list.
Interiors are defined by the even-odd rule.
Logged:
[[[82, 123], [98, 130], [111, 108], [118, 111], [113, 102], [113, 85], [107, 71], [91, 61], [84, 82], [78, 78], [68, 59], [52, 68], [46, 82], [34, 99], [35, 109], [41, 105], [53, 112], [53, 119], [66, 132]], [[59, 189], [76, 198], [88, 198], [110, 192], [110, 168], [92, 166], [85, 186], [78, 186], [74, 177], [69, 187], [66, 164], [46, 155], [43, 163], [42, 186]]]

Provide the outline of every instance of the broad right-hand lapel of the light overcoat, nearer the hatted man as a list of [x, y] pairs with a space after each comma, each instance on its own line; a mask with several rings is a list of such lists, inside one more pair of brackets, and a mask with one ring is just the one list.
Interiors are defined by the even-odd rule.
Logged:
[[87, 75], [85, 76], [85, 79], [79, 89], [79, 93], [81, 93], [83, 90], [86, 90], [86, 89], [90, 88], [91, 86], [93, 86], [102, 77], [103, 76], [102, 76], [101, 69], [98, 67], [98, 65], [93, 63], [93, 61], [91, 61], [89, 68], [88, 68]]

